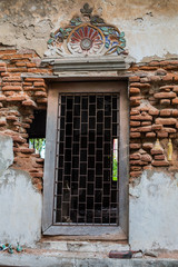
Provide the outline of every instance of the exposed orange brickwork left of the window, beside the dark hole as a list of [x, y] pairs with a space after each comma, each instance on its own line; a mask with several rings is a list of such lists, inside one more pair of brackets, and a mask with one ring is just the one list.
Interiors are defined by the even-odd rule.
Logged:
[[39, 67], [40, 58], [30, 50], [0, 48], [0, 131], [13, 139], [13, 167], [26, 170], [36, 187], [42, 189], [43, 159], [29, 148], [27, 129], [34, 109], [47, 109], [47, 86], [40, 78], [22, 73], [50, 73]]

